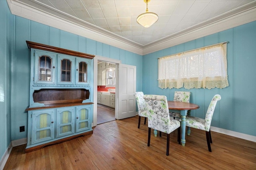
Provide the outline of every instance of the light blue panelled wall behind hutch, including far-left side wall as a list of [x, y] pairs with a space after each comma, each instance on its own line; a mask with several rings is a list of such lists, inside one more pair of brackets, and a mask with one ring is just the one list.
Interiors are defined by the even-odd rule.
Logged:
[[[0, 3], [0, 90], [5, 95], [4, 102], [0, 102], [0, 158], [11, 141], [27, 137], [28, 113], [25, 109], [29, 106], [30, 57], [26, 41], [99, 55], [120, 60], [122, 64], [134, 65], [137, 68], [136, 89], [142, 91], [142, 55], [14, 16], [5, 0], [0, 0]], [[20, 132], [20, 126], [25, 126], [25, 132]]]

